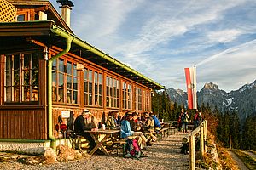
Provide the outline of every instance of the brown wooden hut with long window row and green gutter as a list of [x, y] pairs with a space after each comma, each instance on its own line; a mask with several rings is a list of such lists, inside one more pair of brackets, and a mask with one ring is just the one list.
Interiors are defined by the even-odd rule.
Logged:
[[49, 1], [8, 2], [17, 11], [0, 23], [0, 142], [57, 138], [65, 111], [86, 108], [96, 122], [151, 111], [159, 83], [76, 37]]

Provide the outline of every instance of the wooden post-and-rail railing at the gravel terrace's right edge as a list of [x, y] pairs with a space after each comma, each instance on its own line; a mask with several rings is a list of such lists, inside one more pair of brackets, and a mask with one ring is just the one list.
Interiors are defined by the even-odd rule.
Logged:
[[189, 133], [189, 169], [195, 170], [195, 135], [200, 134], [201, 156], [205, 153], [205, 141], [207, 139], [207, 120], [201, 122], [200, 126]]

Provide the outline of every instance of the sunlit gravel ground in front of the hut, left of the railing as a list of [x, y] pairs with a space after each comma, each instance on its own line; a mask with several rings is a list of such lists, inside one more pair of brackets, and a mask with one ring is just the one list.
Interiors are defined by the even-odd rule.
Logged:
[[180, 153], [181, 139], [188, 133], [177, 132], [163, 138], [153, 146], [147, 147], [143, 153], [148, 157], [140, 160], [117, 156], [91, 156], [77, 161], [57, 162], [28, 166], [18, 162], [0, 163], [0, 169], [189, 169], [189, 155]]

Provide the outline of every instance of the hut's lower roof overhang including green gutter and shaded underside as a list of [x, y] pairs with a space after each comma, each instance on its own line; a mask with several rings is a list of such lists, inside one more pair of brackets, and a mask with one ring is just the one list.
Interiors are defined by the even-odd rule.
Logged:
[[141, 83], [148, 88], [154, 90], [164, 88], [159, 83], [154, 82], [154, 80], [91, 46], [88, 42], [84, 42], [79, 37], [56, 26], [54, 21], [51, 20], [0, 23], [0, 37], [4, 37], [0, 38], [0, 44], [5, 44], [0, 47], [0, 52], [3, 52], [4, 50], [6, 51], [8, 48], [18, 48], [20, 44], [27, 43], [28, 37], [39, 42], [44, 42], [47, 46], [54, 45], [59, 48], [65, 48], [66, 39], [64, 37], [72, 37], [73, 42], [72, 48], [69, 51], [70, 53], [90, 60], [91, 62], [96, 63], [96, 65], [101, 65], [110, 71]]

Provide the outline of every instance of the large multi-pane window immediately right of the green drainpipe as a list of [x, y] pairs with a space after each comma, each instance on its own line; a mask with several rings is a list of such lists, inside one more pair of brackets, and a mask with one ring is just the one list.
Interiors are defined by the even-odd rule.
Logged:
[[78, 71], [76, 64], [55, 59], [52, 66], [53, 101], [78, 104]]

